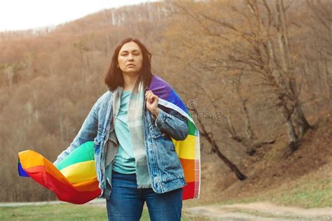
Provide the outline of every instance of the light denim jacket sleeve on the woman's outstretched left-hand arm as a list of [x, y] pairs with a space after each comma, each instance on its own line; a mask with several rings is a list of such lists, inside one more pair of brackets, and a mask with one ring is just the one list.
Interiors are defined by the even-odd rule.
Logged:
[[58, 164], [62, 162], [64, 157], [67, 157], [69, 153], [73, 152], [79, 145], [87, 142], [93, 141], [94, 138], [97, 136], [97, 129], [98, 129], [98, 117], [97, 117], [97, 103], [92, 106], [90, 113], [85, 118], [81, 129], [78, 131], [78, 134], [71, 142], [69, 147], [62, 151], [60, 155], [57, 156], [57, 159], [53, 164]]

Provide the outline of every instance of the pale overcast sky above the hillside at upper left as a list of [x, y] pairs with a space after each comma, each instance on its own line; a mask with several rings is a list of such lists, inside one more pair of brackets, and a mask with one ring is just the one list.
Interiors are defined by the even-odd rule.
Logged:
[[144, 1], [151, 0], [0, 0], [0, 31], [57, 25], [105, 8]]

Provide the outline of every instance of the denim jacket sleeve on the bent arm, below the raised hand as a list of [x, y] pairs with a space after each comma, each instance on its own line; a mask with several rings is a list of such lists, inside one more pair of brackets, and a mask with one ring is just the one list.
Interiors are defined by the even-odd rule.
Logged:
[[155, 120], [155, 127], [176, 141], [183, 141], [188, 136], [187, 119], [177, 110], [160, 107], [158, 116], [153, 117], [153, 119]]

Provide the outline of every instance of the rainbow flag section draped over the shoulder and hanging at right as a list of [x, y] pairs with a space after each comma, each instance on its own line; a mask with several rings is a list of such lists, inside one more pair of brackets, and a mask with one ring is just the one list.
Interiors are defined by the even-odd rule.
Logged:
[[184, 178], [187, 185], [184, 186], [182, 199], [198, 199], [200, 196], [200, 134], [191, 113], [181, 100], [177, 92], [162, 78], [153, 75], [148, 90], [159, 97], [158, 104], [177, 110], [188, 120], [189, 133], [184, 141], [172, 139], [181, 165], [184, 169]]

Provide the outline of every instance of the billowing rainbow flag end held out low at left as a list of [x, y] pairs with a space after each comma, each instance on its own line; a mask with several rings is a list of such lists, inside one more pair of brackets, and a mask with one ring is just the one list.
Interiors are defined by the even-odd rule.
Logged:
[[85, 204], [99, 197], [93, 141], [83, 143], [55, 166], [33, 150], [18, 153], [18, 173], [52, 190], [60, 201]]

